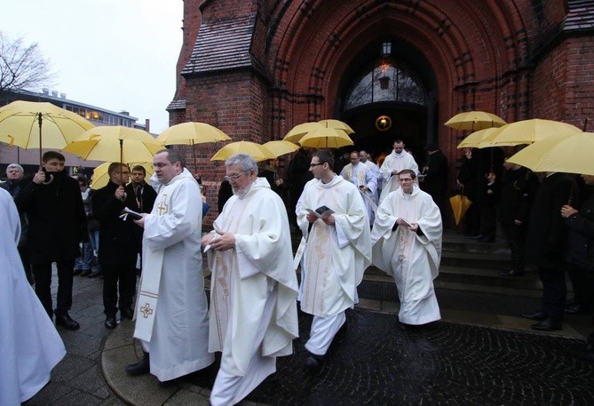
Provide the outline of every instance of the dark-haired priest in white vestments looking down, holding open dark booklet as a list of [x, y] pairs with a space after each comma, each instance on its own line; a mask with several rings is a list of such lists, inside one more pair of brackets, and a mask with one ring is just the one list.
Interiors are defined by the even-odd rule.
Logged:
[[[309, 352], [305, 367], [312, 371], [321, 367], [345, 324], [345, 310], [359, 301], [357, 286], [371, 260], [363, 198], [357, 187], [334, 173], [333, 166], [329, 151], [313, 154], [310, 171], [315, 180], [304, 190], [297, 212], [297, 224], [307, 240], [298, 300], [301, 310], [313, 314], [305, 344]], [[323, 212], [323, 206], [332, 212]], [[318, 209], [321, 213], [312, 212]]]

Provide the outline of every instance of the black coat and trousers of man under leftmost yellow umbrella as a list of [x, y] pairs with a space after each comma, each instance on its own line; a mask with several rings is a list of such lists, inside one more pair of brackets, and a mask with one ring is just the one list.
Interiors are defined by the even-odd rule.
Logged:
[[51, 263], [58, 267], [56, 314], [64, 314], [72, 306], [72, 283], [78, 244], [87, 241], [87, 218], [78, 182], [65, 171], [52, 172], [50, 184], [37, 185], [32, 177], [24, 185], [15, 203], [27, 214], [28, 259], [36, 281], [37, 297], [50, 317]]

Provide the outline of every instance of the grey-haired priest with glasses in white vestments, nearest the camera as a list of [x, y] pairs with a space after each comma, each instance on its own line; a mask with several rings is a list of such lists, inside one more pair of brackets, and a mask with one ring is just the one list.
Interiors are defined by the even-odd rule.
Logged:
[[202, 238], [212, 272], [210, 351], [222, 351], [210, 404], [240, 402], [293, 353], [298, 337], [297, 275], [287, 210], [257, 164], [226, 160], [234, 195]]

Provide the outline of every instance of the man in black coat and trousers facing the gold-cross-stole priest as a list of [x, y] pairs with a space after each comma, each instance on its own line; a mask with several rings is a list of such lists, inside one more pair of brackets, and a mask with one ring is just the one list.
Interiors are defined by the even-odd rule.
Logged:
[[[103, 273], [103, 312], [105, 326], [115, 329], [115, 314], [120, 319], [132, 319], [132, 301], [136, 289], [136, 259], [138, 243], [134, 223], [122, 216], [126, 207], [125, 185], [130, 170], [125, 163], [111, 163], [107, 168], [109, 181], [91, 195], [91, 211], [99, 220], [99, 264]], [[118, 300], [119, 284], [119, 300]]]

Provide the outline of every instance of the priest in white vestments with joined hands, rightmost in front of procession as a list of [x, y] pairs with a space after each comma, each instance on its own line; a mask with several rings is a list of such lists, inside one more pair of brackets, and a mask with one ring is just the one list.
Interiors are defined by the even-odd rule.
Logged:
[[416, 173], [400, 171], [400, 188], [387, 195], [371, 232], [373, 264], [392, 275], [400, 299], [400, 327], [440, 320], [433, 279], [441, 258], [440, 209], [415, 183]]

